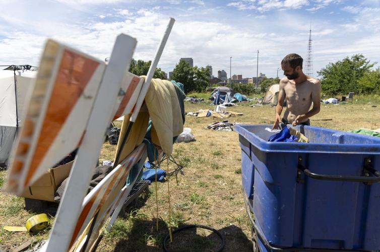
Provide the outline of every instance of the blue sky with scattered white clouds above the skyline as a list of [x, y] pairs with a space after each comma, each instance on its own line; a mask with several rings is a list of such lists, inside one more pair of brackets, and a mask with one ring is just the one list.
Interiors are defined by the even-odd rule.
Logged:
[[[138, 40], [135, 59], [151, 60], [169, 17], [176, 19], [159, 67], [172, 71], [180, 57], [243, 78], [276, 77], [288, 53], [306, 57], [311, 20], [313, 72], [362, 53], [380, 61], [380, 0], [0, 0], [0, 65], [37, 66], [51, 37], [100, 59], [115, 37]], [[376, 65], [376, 67], [379, 65]], [[281, 69], [279, 77], [282, 77]]]

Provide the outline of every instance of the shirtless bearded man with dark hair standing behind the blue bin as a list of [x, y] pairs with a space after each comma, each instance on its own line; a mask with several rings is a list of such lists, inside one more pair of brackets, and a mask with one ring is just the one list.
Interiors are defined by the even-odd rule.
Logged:
[[[321, 83], [302, 72], [302, 61], [302, 57], [295, 53], [286, 55], [281, 61], [281, 68], [286, 77], [280, 81], [273, 129], [278, 129], [280, 123], [282, 125], [291, 123], [293, 126], [310, 125], [309, 118], [320, 112]], [[281, 118], [285, 97], [288, 107]], [[311, 103], [313, 106], [309, 110]]]

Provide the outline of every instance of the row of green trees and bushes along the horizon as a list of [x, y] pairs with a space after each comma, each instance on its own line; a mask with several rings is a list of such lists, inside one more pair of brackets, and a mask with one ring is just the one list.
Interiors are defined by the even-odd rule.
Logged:
[[[380, 68], [373, 69], [376, 62], [371, 63], [362, 54], [345, 57], [334, 63], [329, 63], [318, 71], [321, 80], [322, 92], [326, 95], [380, 94]], [[147, 75], [151, 61], [138, 60], [131, 63], [130, 72], [138, 76]], [[157, 68], [153, 78], [165, 79], [165, 72]], [[183, 84], [185, 93], [204, 92], [209, 85], [209, 70], [207, 68], [190, 67], [188, 62], [180, 60], [175, 66], [170, 80]], [[265, 93], [272, 84], [279, 83], [280, 79], [263, 78], [259, 87], [255, 84], [232, 84], [235, 92], [245, 95]], [[228, 84], [226, 84], [228, 85]]]

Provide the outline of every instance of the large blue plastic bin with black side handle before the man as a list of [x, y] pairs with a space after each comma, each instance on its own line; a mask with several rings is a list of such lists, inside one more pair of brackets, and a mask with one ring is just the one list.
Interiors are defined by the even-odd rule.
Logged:
[[[267, 142], [271, 125], [236, 125], [242, 186], [274, 247], [380, 249], [380, 139], [297, 126], [310, 143]], [[255, 185], [255, 186], [254, 186]]]

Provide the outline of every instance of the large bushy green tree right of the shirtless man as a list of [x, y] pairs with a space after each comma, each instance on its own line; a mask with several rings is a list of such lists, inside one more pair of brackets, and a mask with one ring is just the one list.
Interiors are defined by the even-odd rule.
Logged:
[[335, 63], [329, 63], [318, 75], [321, 76], [322, 91], [328, 95], [359, 93], [358, 81], [363, 78], [374, 64], [370, 64], [362, 54], [345, 57]]

